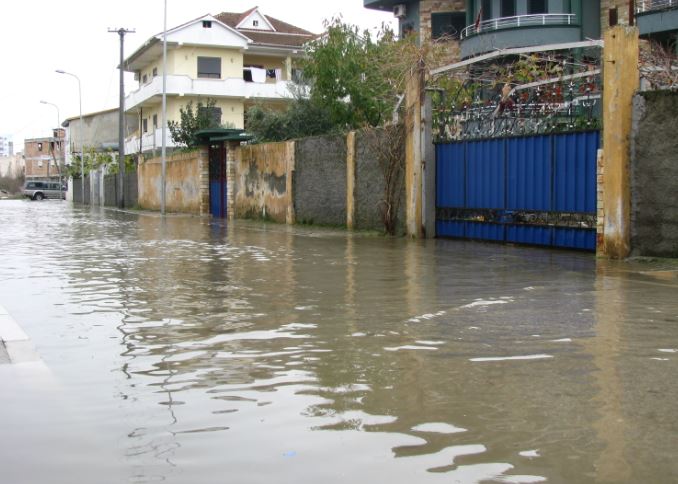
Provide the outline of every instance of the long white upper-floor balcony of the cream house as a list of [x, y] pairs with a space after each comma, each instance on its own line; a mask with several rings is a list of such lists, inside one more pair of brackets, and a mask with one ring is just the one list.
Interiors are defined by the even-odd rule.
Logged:
[[[214, 98], [239, 98], [278, 100], [293, 97], [291, 81], [247, 82], [244, 79], [192, 79], [189, 76], [168, 75], [168, 96], [205, 96]], [[138, 107], [155, 106], [161, 102], [162, 77], [154, 77], [149, 83], [131, 92], [125, 98], [125, 111]]]

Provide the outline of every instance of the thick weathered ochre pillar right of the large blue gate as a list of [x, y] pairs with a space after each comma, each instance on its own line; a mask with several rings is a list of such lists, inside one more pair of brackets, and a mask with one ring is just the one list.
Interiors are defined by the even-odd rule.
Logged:
[[638, 90], [638, 29], [605, 33], [603, 67], [603, 243], [599, 254], [622, 259], [631, 251], [630, 139], [633, 95]]

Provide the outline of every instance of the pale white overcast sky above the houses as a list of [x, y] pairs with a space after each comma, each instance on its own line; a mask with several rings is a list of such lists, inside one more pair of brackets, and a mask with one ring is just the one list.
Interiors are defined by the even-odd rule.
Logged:
[[[341, 14], [348, 23], [376, 28], [392, 22], [390, 13], [363, 8], [363, 0], [167, 0], [168, 28], [205, 14], [244, 12], [259, 6], [271, 15], [312, 32]], [[55, 73], [72, 72], [82, 82], [83, 113], [118, 106], [117, 34], [109, 28], [136, 29], [125, 41], [128, 56], [162, 32], [163, 0], [4, 0], [0, 15], [0, 134], [23, 151], [24, 138], [50, 136], [60, 121], [78, 115], [78, 83]], [[127, 77], [126, 91], [136, 88]]]

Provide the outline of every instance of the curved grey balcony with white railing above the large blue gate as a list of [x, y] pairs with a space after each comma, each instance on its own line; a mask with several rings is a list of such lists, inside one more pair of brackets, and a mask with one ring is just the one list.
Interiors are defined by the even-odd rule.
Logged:
[[462, 30], [461, 57], [467, 59], [497, 49], [578, 42], [581, 36], [577, 16], [571, 13], [493, 18]]

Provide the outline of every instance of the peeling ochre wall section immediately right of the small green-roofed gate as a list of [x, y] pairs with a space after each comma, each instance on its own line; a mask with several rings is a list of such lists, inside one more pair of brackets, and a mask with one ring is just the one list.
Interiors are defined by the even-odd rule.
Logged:
[[293, 208], [294, 142], [243, 146], [235, 164], [235, 217], [286, 223]]

